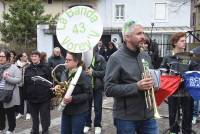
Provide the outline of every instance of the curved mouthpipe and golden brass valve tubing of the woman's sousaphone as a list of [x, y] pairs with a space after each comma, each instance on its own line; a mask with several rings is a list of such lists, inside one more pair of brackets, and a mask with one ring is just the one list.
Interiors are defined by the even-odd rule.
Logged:
[[67, 81], [60, 82], [56, 78], [55, 71], [60, 66], [65, 66], [65, 64], [58, 64], [51, 72], [51, 76], [52, 76], [53, 80], [57, 83], [57, 85], [55, 85], [55, 87], [54, 87], [54, 95], [56, 96], [53, 98], [54, 106], [58, 106], [60, 104], [60, 102], [62, 101], [62, 99], [65, 95], [65, 92], [67, 91], [67, 88], [68, 88]]

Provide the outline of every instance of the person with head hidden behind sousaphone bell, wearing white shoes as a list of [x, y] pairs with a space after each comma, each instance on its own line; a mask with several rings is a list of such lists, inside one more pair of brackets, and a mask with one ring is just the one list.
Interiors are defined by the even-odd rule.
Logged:
[[99, 55], [94, 50], [94, 56], [92, 59], [92, 64], [89, 69], [86, 70], [86, 74], [92, 77], [92, 88], [93, 88], [93, 98], [89, 101], [89, 112], [86, 119], [86, 126], [84, 127], [84, 133], [87, 133], [91, 127], [91, 114], [92, 114], [92, 102], [94, 101], [94, 127], [95, 134], [101, 133], [101, 119], [102, 119], [102, 98], [104, 82], [103, 78], [106, 70], [106, 61], [103, 56]]

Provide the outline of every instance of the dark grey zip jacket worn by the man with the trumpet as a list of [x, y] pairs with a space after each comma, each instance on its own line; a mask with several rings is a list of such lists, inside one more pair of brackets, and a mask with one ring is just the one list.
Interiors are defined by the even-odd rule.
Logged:
[[151, 59], [146, 53], [129, 50], [124, 45], [108, 60], [105, 74], [105, 91], [114, 97], [114, 118], [123, 120], [146, 120], [153, 118], [153, 110], [145, 104], [144, 91], [138, 90], [137, 82], [142, 79], [141, 59]]

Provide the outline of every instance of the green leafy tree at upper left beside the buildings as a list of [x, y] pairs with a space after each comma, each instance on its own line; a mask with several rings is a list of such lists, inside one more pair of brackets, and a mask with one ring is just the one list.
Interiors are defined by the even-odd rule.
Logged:
[[10, 45], [35, 44], [37, 24], [49, 23], [51, 18], [43, 13], [41, 0], [15, 0], [9, 6], [9, 12], [3, 14], [4, 21], [0, 23], [2, 40]]

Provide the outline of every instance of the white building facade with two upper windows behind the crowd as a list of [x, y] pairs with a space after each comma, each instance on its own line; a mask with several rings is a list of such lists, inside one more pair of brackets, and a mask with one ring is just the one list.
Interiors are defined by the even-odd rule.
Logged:
[[[45, 14], [53, 16], [76, 5], [94, 8], [103, 21], [102, 40], [105, 45], [109, 41], [120, 44], [123, 23], [134, 20], [142, 24], [149, 37], [159, 44], [161, 57], [170, 49], [171, 34], [190, 30], [190, 0], [44, 0], [43, 4]], [[0, 8], [6, 11], [7, 5], [0, 4]], [[53, 40], [58, 43], [55, 36]]]

